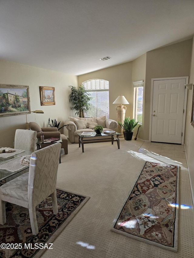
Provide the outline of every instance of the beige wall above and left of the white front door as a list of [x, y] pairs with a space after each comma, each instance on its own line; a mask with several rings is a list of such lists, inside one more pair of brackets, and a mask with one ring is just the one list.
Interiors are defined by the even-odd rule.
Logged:
[[144, 103], [144, 140], [149, 140], [151, 79], [189, 76], [192, 40], [147, 52]]

